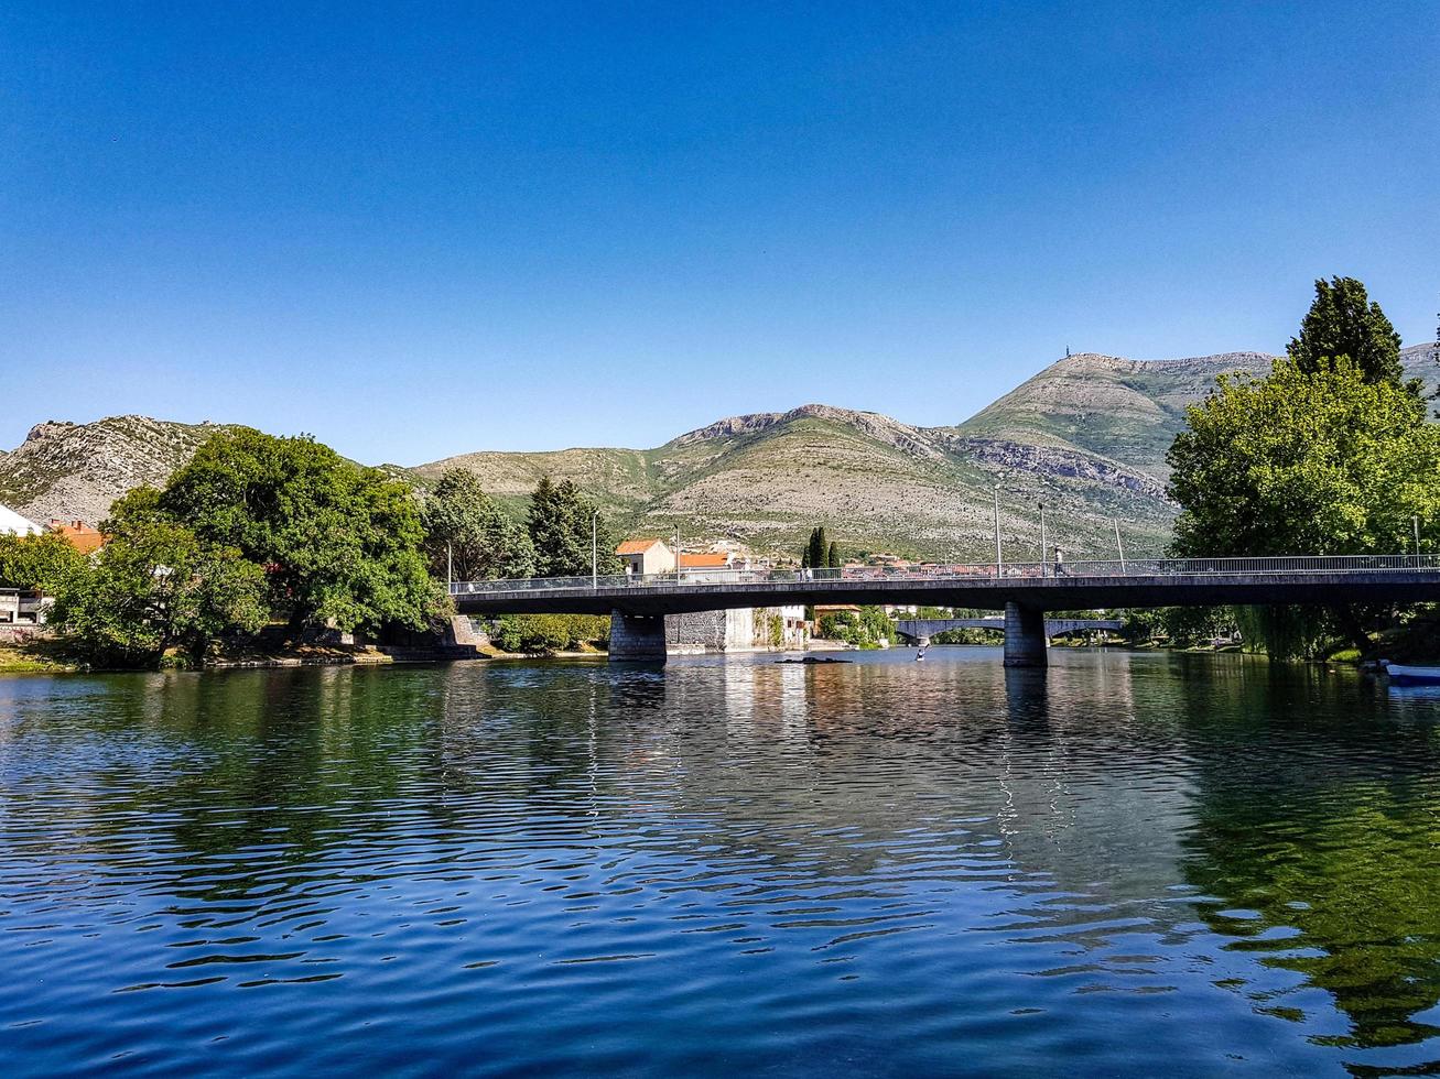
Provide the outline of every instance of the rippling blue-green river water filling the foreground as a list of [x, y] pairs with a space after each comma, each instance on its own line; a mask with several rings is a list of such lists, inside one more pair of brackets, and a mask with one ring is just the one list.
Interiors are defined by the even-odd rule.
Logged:
[[1440, 1062], [1440, 696], [912, 656], [0, 679], [4, 1072]]

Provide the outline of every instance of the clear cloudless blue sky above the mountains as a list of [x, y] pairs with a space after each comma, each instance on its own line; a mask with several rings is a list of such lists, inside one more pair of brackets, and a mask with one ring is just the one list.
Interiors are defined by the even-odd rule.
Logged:
[[1283, 350], [1318, 275], [1440, 301], [1434, 0], [52, 0], [0, 140], [4, 447], [955, 423], [1067, 344]]

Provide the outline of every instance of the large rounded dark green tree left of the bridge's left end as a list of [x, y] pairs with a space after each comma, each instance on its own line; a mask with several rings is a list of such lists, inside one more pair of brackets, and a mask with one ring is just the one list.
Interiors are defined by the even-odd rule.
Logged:
[[264, 567], [268, 607], [294, 627], [423, 629], [444, 604], [410, 489], [305, 436], [217, 432], [156, 509]]

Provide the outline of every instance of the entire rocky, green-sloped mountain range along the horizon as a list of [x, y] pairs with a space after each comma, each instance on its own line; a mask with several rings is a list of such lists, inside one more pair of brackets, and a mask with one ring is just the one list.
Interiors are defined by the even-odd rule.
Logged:
[[[1433, 345], [1404, 350], [1407, 371], [1433, 391]], [[796, 551], [825, 524], [847, 552], [994, 558], [999, 486], [1005, 557], [1040, 557], [1040, 505], [1067, 557], [1107, 555], [1120, 525], [1128, 554], [1159, 550], [1175, 508], [1165, 450], [1184, 410], [1223, 371], [1264, 373], [1273, 357], [1225, 352], [1188, 360], [1068, 355], [952, 427], [806, 404], [733, 416], [648, 450], [481, 452], [416, 469], [386, 466], [418, 486], [446, 468], [478, 475], [513, 514], [543, 475], [593, 493], [619, 531], [687, 544], [739, 541]], [[137, 483], [163, 483], [215, 424], [121, 416], [42, 423], [0, 453], [0, 504], [33, 519], [98, 521]]]

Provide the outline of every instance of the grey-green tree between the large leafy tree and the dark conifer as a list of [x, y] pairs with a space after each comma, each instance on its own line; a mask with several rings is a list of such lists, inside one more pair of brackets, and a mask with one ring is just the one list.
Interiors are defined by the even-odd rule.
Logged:
[[467, 469], [446, 469], [420, 506], [431, 574], [456, 581], [534, 575], [530, 534], [508, 521]]

